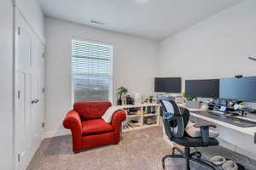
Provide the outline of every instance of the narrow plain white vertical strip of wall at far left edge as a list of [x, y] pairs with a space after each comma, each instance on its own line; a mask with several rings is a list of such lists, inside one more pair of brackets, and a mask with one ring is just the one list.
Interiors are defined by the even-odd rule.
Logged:
[[14, 168], [13, 123], [13, 8], [10, 0], [0, 2], [0, 169]]

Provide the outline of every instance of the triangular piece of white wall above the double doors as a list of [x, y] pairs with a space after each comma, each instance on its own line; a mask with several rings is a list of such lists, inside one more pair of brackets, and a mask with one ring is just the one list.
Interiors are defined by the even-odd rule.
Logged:
[[32, 30], [35, 31], [42, 42], [45, 42], [44, 14], [38, 0], [15, 0], [15, 4], [20, 14], [26, 18], [26, 21], [32, 27]]

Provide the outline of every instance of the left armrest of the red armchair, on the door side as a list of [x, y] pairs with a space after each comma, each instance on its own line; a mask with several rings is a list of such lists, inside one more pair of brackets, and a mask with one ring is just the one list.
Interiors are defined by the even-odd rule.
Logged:
[[62, 124], [63, 127], [71, 130], [73, 151], [78, 152], [81, 150], [82, 142], [82, 122], [79, 113], [74, 110], [68, 111]]

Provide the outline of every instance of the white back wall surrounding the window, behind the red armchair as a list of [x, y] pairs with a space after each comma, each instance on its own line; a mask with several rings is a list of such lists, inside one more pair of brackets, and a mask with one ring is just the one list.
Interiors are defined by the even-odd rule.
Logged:
[[71, 39], [113, 44], [113, 89], [153, 94], [157, 43], [67, 21], [46, 19], [46, 136], [66, 133], [62, 121], [71, 109]]

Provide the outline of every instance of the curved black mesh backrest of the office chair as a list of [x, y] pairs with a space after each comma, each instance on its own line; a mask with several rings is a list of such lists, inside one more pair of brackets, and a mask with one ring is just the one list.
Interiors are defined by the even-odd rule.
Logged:
[[169, 139], [182, 138], [184, 129], [189, 122], [189, 111], [180, 111], [173, 100], [160, 100], [160, 104], [162, 105], [166, 135]]

